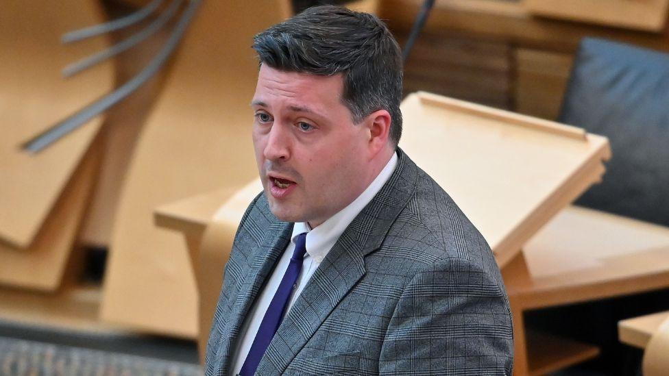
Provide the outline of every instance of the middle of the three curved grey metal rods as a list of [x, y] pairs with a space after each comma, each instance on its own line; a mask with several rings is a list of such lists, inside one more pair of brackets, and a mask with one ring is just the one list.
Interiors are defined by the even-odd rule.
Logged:
[[139, 42], [145, 40], [146, 38], [149, 38], [149, 36], [156, 33], [161, 27], [163, 27], [165, 23], [167, 23], [167, 21], [169, 21], [177, 12], [177, 10], [179, 9], [179, 5], [181, 5], [181, 2], [182, 0], [173, 0], [172, 3], [169, 5], [169, 8], [167, 8], [165, 12], [162, 12], [162, 14], [160, 14], [160, 17], [156, 18], [156, 20], [152, 22], [151, 25], [145, 27], [145, 29], [143, 29], [141, 32], [138, 32], [137, 34], [130, 36], [130, 38], [127, 38], [123, 40], [123, 42], [120, 42], [117, 45], [113, 45], [112, 47], [104, 51], [100, 51], [98, 53], [90, 55], [88, 58], [84, 58], [82, 60], [79, 60], [78, 62], [73, 62], [72, 64], [69, 64], [62, 70], [62, 75], [64, 77], [71, 77], [77, 73], [80, 73], [86, 68], [90, 68], [90, 66], [93, 66], [104, 60], [107, 60], [108, 58], [111, 58], [114, 55], [118, 55], [119, 53], [136, 46]]

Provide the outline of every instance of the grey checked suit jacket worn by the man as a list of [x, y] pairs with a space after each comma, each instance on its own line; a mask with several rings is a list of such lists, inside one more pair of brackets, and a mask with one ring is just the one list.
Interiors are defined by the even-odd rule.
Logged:
[[[400, 149], [376, 197], [321, 262], [269, 344], [256, 375], [511, 375], [509, 300], [479, 232]], [[207, 375], [231, 351], [290, 241], [258, 195], [226, 266]]]

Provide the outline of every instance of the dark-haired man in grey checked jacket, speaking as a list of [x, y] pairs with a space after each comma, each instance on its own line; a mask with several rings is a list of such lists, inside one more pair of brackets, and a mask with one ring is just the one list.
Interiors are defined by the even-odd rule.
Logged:
[[510, 375], [494, 257], [397, 147], [402, 62], [387, 27], [310, 8], [253, 47], [265, 189], [234, 239], [206, 373]]

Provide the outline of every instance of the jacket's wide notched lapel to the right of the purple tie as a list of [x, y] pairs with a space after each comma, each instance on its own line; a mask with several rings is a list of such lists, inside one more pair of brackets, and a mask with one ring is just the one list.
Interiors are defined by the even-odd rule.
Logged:
[[378, 249], [413, 196], [417, 167], [398, 149], [398, 166], [345, 229], [284, 318], [258, 364], [258, 375], [283, 373], [339, 301], [365, 275], [365, 255]]

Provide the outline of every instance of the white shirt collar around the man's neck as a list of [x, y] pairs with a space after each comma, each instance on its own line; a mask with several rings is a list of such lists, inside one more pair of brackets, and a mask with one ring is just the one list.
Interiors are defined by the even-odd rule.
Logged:
[[291, 239], [293, 243], [298, 235], [306, 232], [306, 253], [311, 256], [316, 262], [321, 262], [328, 254], [332, 246], [335, 245], [339, 236], [343, 234], [344, 230], [354, 218], [365, 208], [365, 206], [374, 199], [374, 196], [383, 187], [383, 184], [390, 179], [390, 176], [395, 171], [397, 166], [398, 156], [393, 153], [386, 166], [376, 176], [372, 184], [354, 199], [352, 203], [337, 212], [337, 214], [328, 218], [327, 221], [321, 223], [315, 229], [311, 229], [306, 222], [297, 222], [293, 226], [293, 235]]

